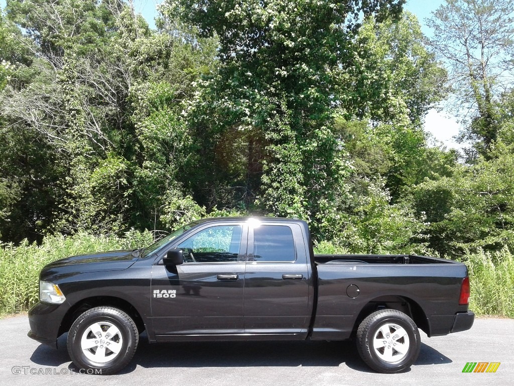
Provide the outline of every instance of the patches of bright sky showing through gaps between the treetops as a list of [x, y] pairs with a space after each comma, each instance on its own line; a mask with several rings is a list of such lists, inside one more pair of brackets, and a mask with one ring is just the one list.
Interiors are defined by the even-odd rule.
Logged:
[[[156, 5], [162, 3], [162, 0], [134, 0], [134, 8], [136, 12], [141, 13], [148, 21], [152, 28], [155, 28], [154, 17], [157, 14]], [[435, 11], [444, 0], [407, 0], [405, 9], [414, 13], [419, 22], [423, 33], [428, 37], [432, 36], [430, 28], [425, 24], [425, 19], [430, 17], [431, 12]], [[5, 7], [6, 0], [0, 0], [0, 6]], [[452, 137], [458, 133], [460, 126], [457, 124], [455, 117], [439, 113], [435, 109], [430, 110], [425, 118], [425, 130], [432, 133], [438, 141], [444, 143], [448, 147], [461, 148], [456, 144]]]

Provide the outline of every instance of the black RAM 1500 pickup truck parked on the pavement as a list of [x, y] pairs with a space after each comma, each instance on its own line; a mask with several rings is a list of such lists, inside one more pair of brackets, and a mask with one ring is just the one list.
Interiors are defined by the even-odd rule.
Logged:
[[471, 328], [464, 264], [415, 255], [315, 255], [297, 219], [193, 222], [134, 251], [47, 265], [28, 336], [112, 374], [150, 342], [355, 339], [372, 369], [406, 369], [429, 337]]

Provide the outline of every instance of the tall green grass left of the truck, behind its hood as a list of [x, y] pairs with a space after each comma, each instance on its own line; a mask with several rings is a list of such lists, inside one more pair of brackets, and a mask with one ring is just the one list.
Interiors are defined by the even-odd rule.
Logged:
[[39, 273], [51, 261], [63, 257], [115, 249], [136, 249], [153, 242], [151, 232], [130, 231], [124, 237], [45, 236], [41, 245], [0, 245], [0, 315], [29, 309], [39, 300]]

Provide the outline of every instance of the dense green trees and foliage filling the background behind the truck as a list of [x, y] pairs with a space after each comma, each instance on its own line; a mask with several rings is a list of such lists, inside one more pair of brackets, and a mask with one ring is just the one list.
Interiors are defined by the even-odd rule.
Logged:
[[[167, 0], [154, 30], [123, 0], [7, 0], [0, 239], [254, 214], [347, 252], [512, 251], [514, 7], [448, 0], [429, 42], [403, 3]], [[464, 157], [423, 130], [443, 100]]]

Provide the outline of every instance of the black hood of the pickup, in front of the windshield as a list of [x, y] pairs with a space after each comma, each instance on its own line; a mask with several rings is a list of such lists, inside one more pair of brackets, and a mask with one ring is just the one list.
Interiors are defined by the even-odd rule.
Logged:
[[132, 266], [138, 257], [133, 250], [98, 252], [53, 261], [41, 271], [41, 278], [70, 273], [121, 271]]

